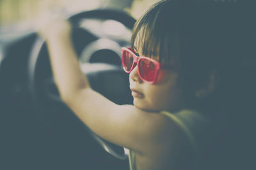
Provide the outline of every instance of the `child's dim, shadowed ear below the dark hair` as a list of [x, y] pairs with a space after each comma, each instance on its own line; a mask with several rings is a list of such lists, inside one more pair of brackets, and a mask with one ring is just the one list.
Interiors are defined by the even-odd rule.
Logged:
[[195, 91], [195, 96], [197, 98], [203, 98], [211, 94], [216, 87], [218, 87], [220, 78], [218, 77], [217, 71], [212, 71], [208, 78], [207, 83], [204, 87], [201, 87], [200, 89], [197, 89]]

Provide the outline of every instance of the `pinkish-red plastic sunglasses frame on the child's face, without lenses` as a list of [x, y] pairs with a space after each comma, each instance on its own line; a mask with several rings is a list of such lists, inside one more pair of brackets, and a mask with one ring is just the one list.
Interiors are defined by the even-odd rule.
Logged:
[[[133, 57], [133, 62], [132, 62], [132, 66], [131, 66], [131, 70], [130, 71], [127, 71], [125, 70], [125, 64], [124, 64], [124, 53], [125, 52], [129, 52], [131, 53], [132, 57]], [[131, 47], [122, 47], [122, 66], [123, 66], [123, 69], [126, 73], [131, 73], [132, 70], [134, 69], [134, 67], [136, 67], [136, 65], [138, 65], [140, 63], [140, 61], [142, 59], [146, 59], [146, 60], [149, 60], [150, 62], [153, 62], [155, 67], [156, 67], [156, 73], [154, 74], [154, 80], [152, 81], [147, 81], [145, 80], [142, 76], [141, 76], [141, 71], [140, 71], [140, 68], [138, 67], [138, 74], [140, 76], [140, 79], [143, 80], [143, 81], [146, 81], [147, 83], [151, 83], [151, 84], [154, 84], [156, 83], [156, 80], [157, 80], [157, 75], [159, 73], [159, 69], [161, 69], [161, 65], [159, 62], [157, 62], [156, 60], [154, 59], [150, 59], [149, 57], [144, 57], [144, 56], [137, 56], [135, 55], [135, 52], [134, 50], [132, 50]]]

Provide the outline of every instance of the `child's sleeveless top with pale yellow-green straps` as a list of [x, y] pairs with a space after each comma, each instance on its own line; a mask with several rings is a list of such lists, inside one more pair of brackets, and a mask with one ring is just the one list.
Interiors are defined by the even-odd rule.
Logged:
[[[202, 131], [207, 127], [209, 121], [204, 115], [193, 110], [181, 110], [177, 113], [170, 113], [168, 111], [161, 111], [161, 114], [166, 115], [173, 120], [179, 127], [181, 127], [184, 134], [189, 139], [189, 142], [193, 146], [195, 152], [195, 165], [196, 169], [200, 163], [200, 152], [198, 148], [198, 142], [202, 138]], [[136, 162], [134, 152], [129, 150], [129, 165], [131, 170], [136, 170]]]

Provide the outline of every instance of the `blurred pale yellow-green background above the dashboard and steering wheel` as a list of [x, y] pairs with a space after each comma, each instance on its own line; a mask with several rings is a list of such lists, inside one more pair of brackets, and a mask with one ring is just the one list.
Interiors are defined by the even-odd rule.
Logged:
[[38, 24], [45, 13], [65, 12], [72, 15], [95, 8], [125, 10], [138, 19], [159, 0], [0, 0], [0, 31], [26, 29]]

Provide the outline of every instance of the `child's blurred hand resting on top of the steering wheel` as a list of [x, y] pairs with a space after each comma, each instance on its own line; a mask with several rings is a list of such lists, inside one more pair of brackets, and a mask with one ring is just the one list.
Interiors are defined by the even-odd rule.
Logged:
[[72, 26], [64, 17], [54, 17], [51, 20], [42, 20], [38, 34], [46, 41], [62, 39], [70, 36]]

